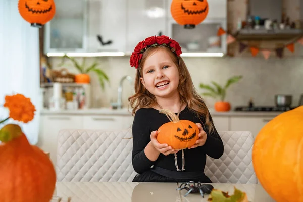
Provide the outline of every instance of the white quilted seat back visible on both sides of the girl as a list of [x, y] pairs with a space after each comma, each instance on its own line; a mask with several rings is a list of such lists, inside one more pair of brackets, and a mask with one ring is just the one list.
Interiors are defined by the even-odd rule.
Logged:
[[[131, 129], [61, 130], [57, 181], [132, 181]], [[207, 159], [205, 174], [214, 183], [257, 183], [252, 167], [254, 137], [247, 131], [220, 132], [224, 154]]]

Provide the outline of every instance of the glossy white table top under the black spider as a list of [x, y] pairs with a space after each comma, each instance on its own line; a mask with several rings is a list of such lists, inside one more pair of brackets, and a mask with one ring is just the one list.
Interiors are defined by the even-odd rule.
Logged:
[[[179, 184], [180, 185], [180, 184]], [[233, 194], [234, 187], [246, 192], [250, 202], [274, 202], [260, 184], [212, 184], [215, 189]], [[57, 182], [52, 202], [204, 202], [199, 193], [178, 191], [178, 183], [156, 182]], [[61, 200], [58, 200], [61, 197]], [[68, 199], [70, 197], [70, 199]]]

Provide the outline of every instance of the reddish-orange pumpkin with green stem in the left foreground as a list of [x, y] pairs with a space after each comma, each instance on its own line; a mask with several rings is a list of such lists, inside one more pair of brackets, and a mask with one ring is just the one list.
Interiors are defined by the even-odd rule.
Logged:
[[56, 172], [51, 160], [30, 145], [20, 126], [8, 124], [0, 130], [0, 201], [49, 202]]

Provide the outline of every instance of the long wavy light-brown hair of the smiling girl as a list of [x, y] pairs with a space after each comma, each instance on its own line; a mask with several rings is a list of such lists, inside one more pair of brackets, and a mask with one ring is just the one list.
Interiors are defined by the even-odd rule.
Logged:
[[[177, 57], [168, 47], [157, 45], [156, 47], [149, 47], [143, 54], [143, 57], [139, 63], [139, 67], [136, 72], [135, 78], [135, 94], [128, 98], [130, 106], [132, 109], [132, 115], [135, 115], [135, 112], [140, 108], [151, 108], [154, 105], [157, 105], [156, 97], [147, 91], [144, 85], [140, 81], [142, 77], [142, 67], [146, 59], [153, 54], [158, 49], [164, 49], [170, 55], [172, 61], [177, 66], [179, 71], [179, 86], [178, 90], [180, 93], [181, 102], [185, 103], [187, 107], [196, 112], [197, 116], [202, 115], [205, 117], [206, 126], [208, 126], [208, 132], [214, 130], [214, 125], [209, 118], [208, 108], [203, 100], [203, 98], [196, 92], [195, 87], [192, 83], [190, 73], [181, 57]], [[202, 122], [202, 121], [201, 121]], [[203, 124], [203, 122], [202, 122]]]

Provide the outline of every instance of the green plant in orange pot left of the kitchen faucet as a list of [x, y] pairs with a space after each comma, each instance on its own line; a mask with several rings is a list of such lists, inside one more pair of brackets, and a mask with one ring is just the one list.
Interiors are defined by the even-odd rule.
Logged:
[[62, 66], [64, 64], [65, 58], [71, 60], [75, 68], [77, 68], [77, 70], [80, 72], [80, 74], [75, 75], [76, 83], [89, 83], [90, 82], [90, 76], [88, 74], [89, 72], [94, 72], [97, 74], [102, 89], [104, 89], [105, 81], [109, 82], [109, 78], [106, 75], [106, 73], [103, 70], [96, 68], [98, 65], [97, 62], [94, 62], [92, 65], [85, 67], [85, 57], [83, 58], [83, 62], [80, 65], [75, 58], [64, 55], [63, 61], [59, 66]]

